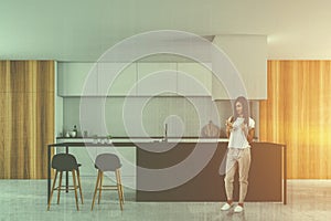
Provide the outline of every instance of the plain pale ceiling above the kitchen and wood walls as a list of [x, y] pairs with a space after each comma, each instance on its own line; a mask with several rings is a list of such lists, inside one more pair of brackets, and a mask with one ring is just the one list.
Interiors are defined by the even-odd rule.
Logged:
[[329, 0], [0, 0], [0, 60], [95, 61], [137, 33], [263, 34], [268, 59], [331, 59]]

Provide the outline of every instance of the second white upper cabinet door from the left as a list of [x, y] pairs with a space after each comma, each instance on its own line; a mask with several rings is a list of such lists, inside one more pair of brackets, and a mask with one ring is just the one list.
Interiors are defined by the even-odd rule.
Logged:
[[98, 94], [102, 96], [136, 96], [136, 63], [99, 63]]

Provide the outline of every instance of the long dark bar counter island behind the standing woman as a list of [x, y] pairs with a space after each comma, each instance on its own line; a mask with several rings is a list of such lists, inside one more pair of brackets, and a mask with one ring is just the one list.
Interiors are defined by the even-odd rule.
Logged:
[[[225, 201], [224, 168], [227, 141], [113, 141], [113, 144], [61, 143], [49, 148], [49, 193], [51, 149], [53, 147], [136, 147], [137, 201]], [[286, 145], [254, 143], [246, 201], [273, 201], [286, 204]], [[225, 162], [225, 161], [224, 161]], [[238, 175], [234, 200], [238, 200]]]

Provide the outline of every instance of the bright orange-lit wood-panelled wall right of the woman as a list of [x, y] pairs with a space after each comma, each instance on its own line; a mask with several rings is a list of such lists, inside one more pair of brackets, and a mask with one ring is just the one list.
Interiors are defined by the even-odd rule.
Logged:
[[331, 178], [331, 61], [268, 61], [260, 140], [287, 144], [288, 178]]

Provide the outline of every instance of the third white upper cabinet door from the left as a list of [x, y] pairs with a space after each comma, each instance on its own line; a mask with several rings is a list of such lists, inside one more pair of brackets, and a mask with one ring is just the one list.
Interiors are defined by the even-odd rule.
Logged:
[[138, 95], [177, 94], [177, 63], [138, 63]]

